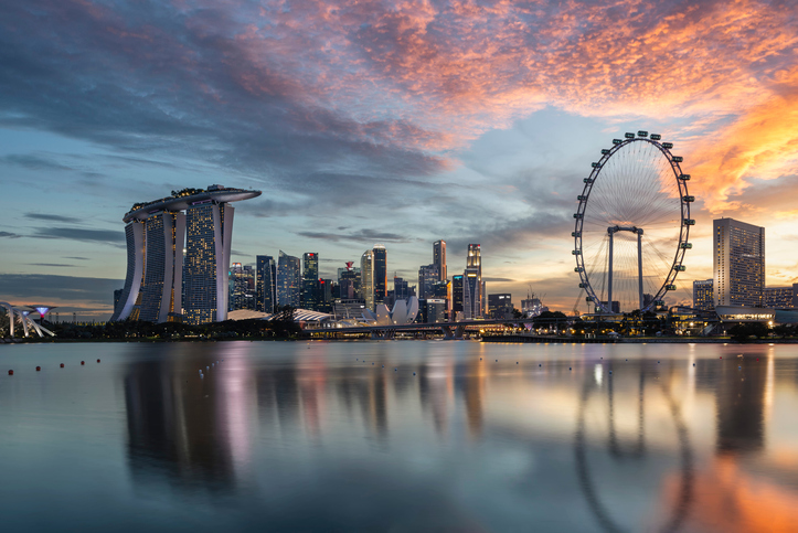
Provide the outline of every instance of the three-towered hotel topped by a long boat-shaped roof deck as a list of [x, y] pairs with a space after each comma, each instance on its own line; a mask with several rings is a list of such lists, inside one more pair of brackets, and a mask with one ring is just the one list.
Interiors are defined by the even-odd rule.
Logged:
[[233, 234], [230, 202], [258, 195], [260, 191], [210, 185], [206, 191], [183, 189], [134, 204], [123, 217], [128, 269], [111, 320], [177, 320], [181, 307], [189, 323], [225, 320]]

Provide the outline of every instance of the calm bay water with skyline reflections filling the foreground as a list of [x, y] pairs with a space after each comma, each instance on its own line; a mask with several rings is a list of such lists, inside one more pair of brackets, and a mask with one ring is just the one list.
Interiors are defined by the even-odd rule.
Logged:
[[0, 345], [0, 370], [3, 532], [798, 531], [798, 347]]

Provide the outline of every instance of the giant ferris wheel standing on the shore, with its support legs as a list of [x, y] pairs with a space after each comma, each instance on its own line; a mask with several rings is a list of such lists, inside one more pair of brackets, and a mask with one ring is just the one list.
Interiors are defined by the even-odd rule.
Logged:
[[597, 312], [662, 306], [684, 270], [694, 198], [688, 194], [690, 174], [679, 166], [682, 158], [660, 139], [647, 131], [614, 139], [583, 180], [573, 254], [579, 287]]

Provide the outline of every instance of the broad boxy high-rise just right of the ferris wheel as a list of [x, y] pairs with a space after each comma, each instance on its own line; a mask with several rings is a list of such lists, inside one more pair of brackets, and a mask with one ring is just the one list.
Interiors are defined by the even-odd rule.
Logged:
[[765, 288], [765, 228], [713, 221], [714, 298], [719, 306], [762, 307]]

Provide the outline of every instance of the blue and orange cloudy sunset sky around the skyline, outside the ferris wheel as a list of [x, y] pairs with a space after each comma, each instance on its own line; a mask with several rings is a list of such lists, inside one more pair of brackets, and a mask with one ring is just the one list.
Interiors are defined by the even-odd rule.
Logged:
[[263, 191], [233, 262], [334, 277], [379, 243], [415, 280], [434, 241], [450, 276], [480, 243], [489, 294], [584, 312], [576, 195], [639, 129], [696, 196], [672, 302], [721, 216], [765, 226], [766, 283], [791, 284], [797, 3], [0, 0], [0, 300], [107, 319], [121, 216], [221, 183]]

